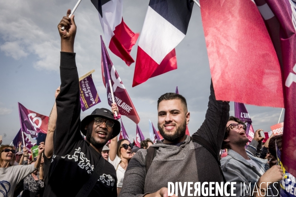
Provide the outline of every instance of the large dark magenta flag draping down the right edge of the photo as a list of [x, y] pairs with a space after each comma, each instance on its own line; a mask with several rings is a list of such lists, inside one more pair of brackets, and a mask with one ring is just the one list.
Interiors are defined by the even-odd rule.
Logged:
[[255, 0], [255, 2], [265, 21], [281, 65], [286, 109], [282, 162], [286, 170], [296, 176], [296, 2], [295, 0]]

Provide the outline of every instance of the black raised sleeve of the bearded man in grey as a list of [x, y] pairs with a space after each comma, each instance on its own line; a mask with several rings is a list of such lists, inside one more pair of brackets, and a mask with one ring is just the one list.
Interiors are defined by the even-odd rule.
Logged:
[[222, 146], [226, 124], [229, 118], [229, 102], [216, 100], [213, 82], [211, 81], [206, 119], [201, 127], [193, 134], [206, 139], [217, 151], [217, 157]]

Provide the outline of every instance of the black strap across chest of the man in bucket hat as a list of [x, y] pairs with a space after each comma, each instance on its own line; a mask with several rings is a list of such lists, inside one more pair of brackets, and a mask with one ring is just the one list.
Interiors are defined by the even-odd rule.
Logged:
[[84, 183], [82, 188], [79, 190], [76, 197], [87, 197], [89, 193], [94, 188], [95, 184], [97, 183], [100, 175], [103, 173], [103, 169], [105, 166], [105, 159], [103, 156], [101, 156], [98, 164], [96, 165], [96, 168], [94, 169], [93, 173], [90, 175], [89, 179]]

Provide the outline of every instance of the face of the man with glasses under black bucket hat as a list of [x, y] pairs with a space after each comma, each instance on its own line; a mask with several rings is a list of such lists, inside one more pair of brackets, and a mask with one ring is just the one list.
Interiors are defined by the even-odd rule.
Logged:
[[101, 125], [97, 125], [93, 120], [85, 127], [86, 140], [96, 148], [102, 148], [111, 139], [113, 132], [113, 128], [106, 126], [108, 119], [103, 119], [104, 122]]

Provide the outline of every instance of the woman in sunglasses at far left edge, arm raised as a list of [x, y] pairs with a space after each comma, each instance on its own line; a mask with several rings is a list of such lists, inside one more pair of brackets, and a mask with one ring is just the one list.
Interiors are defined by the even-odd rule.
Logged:
[[34, 165], [13, 165], [14, 147], [9, 145], [0, 147], [0, 192], [4, 197], [13, 197], [16, 185], [28, 174], [37, 170], [44, 145], [39, 145], [38, 149], [38, 157]]

